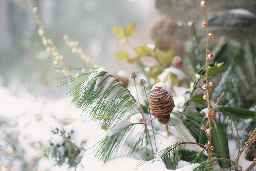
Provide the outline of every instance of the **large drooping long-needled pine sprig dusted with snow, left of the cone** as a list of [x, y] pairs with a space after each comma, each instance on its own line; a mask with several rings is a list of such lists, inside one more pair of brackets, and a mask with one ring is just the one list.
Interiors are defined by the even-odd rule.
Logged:
[[124, 115], [129, 115], [129, 118], [139, 111], [127, 88], [106, 70], [98, 69], [65, 78], [69, 79], [58, 85], [67, 84], [78, 78], [82, 80], [67, 93], [73, 96], [71, 103], [82, 109], [81, 115], [99, 121], [98, 124], [106, 124], [109, 129]]

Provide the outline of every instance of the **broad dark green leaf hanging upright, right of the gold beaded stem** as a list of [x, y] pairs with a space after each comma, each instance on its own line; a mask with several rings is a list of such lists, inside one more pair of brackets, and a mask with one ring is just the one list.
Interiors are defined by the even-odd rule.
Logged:
[[[230, 159], [228, 150], [228, 139], [225, 131], [222, 127], [216, 125], [212, 129], [212, 145], [214, 146], [214, 152], [219, 156], [219, 158]], [[218, 161], [221, 168], [229, 168], [231, 163], [228, 161]]]

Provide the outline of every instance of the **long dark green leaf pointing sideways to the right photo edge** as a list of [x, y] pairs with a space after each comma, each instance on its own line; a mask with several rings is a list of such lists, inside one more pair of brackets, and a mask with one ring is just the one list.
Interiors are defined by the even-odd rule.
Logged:
[[218, 107], [218, 109], [222, 112], [228, 112], [234, 117], [256, 119], [256, 112], [241, 107]]

